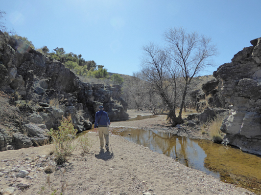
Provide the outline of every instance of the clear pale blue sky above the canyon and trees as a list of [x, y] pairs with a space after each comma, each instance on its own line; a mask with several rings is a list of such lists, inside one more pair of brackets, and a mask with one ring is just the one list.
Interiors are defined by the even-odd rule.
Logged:
[[212, 74], [261, 37], [260, 8], [261, 0], [0, 0], [7, 28], [36, 48], [63, 47], [126, 75], [140, 70], [142, 45], [164, 44], [170, 27], [212, 38], [217, 66], [201, 75]]

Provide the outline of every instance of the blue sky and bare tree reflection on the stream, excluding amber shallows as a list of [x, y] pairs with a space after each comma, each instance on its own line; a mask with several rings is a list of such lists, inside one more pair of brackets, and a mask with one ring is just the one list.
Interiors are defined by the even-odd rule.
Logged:
[[131, 128], [114, 128], [113, 134], [148, 147], [154, 152], [169, 156], [188, 167], [219, 177], [218, 173], [214, 173], [204, 167], [204, 158], [206, 157], [204, 150], [198, 146], [198, 143], [188, 137]]

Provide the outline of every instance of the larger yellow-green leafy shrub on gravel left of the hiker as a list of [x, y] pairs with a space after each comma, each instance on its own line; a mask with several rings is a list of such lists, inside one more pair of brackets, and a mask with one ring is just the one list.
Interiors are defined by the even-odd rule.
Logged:
[[55, 131], [54, 129], [50, 129], [49, 135], [53, 139], [53, 143], [55, 145], [55, 162], [57, 164], [63, 164], [67, 155], [70, 155], [77, 145], [72, 145], [77, 130], [73, 128], [73, 124], [71, 121], [71, 116], [67, 118], [63, 118], [61, 120], [61, 126], [58, 128], [59, 131]]

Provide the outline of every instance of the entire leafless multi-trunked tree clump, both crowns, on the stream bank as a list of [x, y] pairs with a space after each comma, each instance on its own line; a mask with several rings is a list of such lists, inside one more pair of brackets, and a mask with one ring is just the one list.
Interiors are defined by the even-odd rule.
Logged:
[[182, 110], [192, 78], [213, 66], [212, 57], [217, 50], [210, 38], [183, 28], [168, 29], [164, 38], [167, 43], [164, 48], [153, 43], [143, 46], [142, 75], [161, 96], [174, 126], [183, 123]]

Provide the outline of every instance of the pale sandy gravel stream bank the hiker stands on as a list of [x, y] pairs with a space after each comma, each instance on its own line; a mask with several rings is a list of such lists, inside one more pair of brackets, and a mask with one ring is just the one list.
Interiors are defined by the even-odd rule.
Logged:
[[[153, 123], [153, 118], [145, 120]], [[147, 122], [140, 120], [140, 123]], [[110, 152], [100, 152], [97, 134], [89, 132], [87, 135], [94, 140], [89, 154], [82, 156], [78, 146], [73, 155], [69, 156], [68, 162], [61, 168], [53, 167], [53, 173], [49, 176], [40, 170], [36, 170], [38, 173], [32, 171], [29, 174], [32, 179], [26, 179], [30, 187], [23, 191], [16, 190], [15, 194], [51, 195], [56, 190], [58, 195], [63, 184], [66, 186], [63, 195], [141, 195], [146, 192], [146, 195], [254, 194], [188, 168], [172, 158], [152, 152], [122, 137], [110, 136]], [[0, 168], [12, 169], [19, 164], [20, 169], [23, 169], [29, 163], [25, 158], [35, 158], [37, 155], [47, 155], [49, 162], [48, 154], [51, 150], [52, 145], [47, 145], [1, 152]], [[9, 161], [3, 162], [2, 159]], [[36, 167], [31, 166], [31, 169]], [[8, 177], [0, 177], [0, 191], [18, 183], [15, 177], [9, 175], [11, 173], [6, 175]]]

